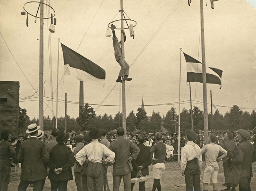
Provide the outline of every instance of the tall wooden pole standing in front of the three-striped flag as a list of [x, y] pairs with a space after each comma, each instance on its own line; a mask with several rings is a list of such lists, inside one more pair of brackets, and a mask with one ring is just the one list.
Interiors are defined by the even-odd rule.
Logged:
[[201, 44], [202, 44], [202, 72], [203, 72], [203, 104], [204, 104], [204, 140], [208, 139], [208, 112], [207, 112], [207, 85], [206, 85], [206, 59], [204, 49], [204, 5], [200, 0], [200, 18], [201, 18]]

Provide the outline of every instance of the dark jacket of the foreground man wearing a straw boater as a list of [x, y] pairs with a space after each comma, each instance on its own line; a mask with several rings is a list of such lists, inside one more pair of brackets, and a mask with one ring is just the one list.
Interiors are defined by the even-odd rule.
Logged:
[[36, 137], [23, 141], [17, 159], [19, 163], [22, 163], [20, 180], [42, 180], [47, 176], [44, 163], [48, 162], [49, 155], [44, 141]]

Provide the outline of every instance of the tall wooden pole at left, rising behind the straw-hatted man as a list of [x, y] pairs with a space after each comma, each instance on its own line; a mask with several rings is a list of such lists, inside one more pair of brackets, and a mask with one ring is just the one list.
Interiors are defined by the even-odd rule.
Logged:
[[40, 42], [39, 42], [39, 114], [38, 125], [44, 130], [44, 0], [40, 1]]

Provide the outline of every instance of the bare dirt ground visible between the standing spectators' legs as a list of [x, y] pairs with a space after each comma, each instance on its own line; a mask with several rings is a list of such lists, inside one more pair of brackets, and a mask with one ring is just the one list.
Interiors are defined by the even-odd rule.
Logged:
[[[205, 163], [203, 163], [203, 166]], [[204, 167], [202, 168], [202, 174], [201, 177], [203, 177], [203, 171]], [[146, 182], [146, 191], [151, 191], [152, 186], [153, 186], [153, 178], [152, 178], [152, 165], [149, 166], [149, 176], [148, 176], [148, 181]], [[256, 190], [256, 162], [253, 163], [253, 177], [251, 180], [251, 189]], [[20, 177], [20, 169], [18, 171], [18, 174], [15, 174], [14, 169], [12, 169], [11, 172], [11, 182], [9, 183], [8, 191], [14, 191], [17, 190], [18, 184], [19, 184], [19, 177]], [[113, 190], [113, 184], [112, 184], [112, 166], [108, 168], [108, 182], [109, 182], [109, 187], [110, 190]], [[223, 174], [223, 166], [222, 166], [222, 161], [219, 162], [219, 174], [218, 174], [218, 189], [224, 189], [225, 187], [222, 186], [222, 183], [225, 182], [224, 179], [224, 174]], [[177, 161], [172, 163], [168, 162], [166, 163], [166, 169], [163, 172], [163, 176], [161, 178], [161, 189], [162, 191], [184, 191], [185, 190], [185, 178], [181, 175], [181, 168], [180, 168], [180, 163]], [[28, 187], [27, 191], [32, 191], [33, 187]], [[50, 181], [46, 178], [45, 181], [45, 186], [44, 186], [45, 191], [50, 191]], [[68, 191], [76, 190], [76, 184], [75, 180], [71, 180], [68, 182]], [[124, 190], [123, 183], [121, 183], [120, 186], [120, 191]], [[136, 183], [133, 190], [139, 190], [139, 183]], [[212, 185], [208, 186], [208, 191], [212, 191]], [[236, 189], [237, 191], [239, 190], [238, 187]]]

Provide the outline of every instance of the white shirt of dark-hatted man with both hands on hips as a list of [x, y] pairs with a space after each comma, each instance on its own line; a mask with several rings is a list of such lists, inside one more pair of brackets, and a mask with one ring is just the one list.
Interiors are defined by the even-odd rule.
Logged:
[[105, 145], [98, 142], [97, 139], [93, 139], [93, 142], [85, 145], [77, 154], [76, 160], [79, 162], [80, 165], [88, 157], [89, 161], [93, 163], [101, 163], [102, 157], [106, 155], [106, 162], [112, 162], [115, 158], [115, 153], [108, 149]]

